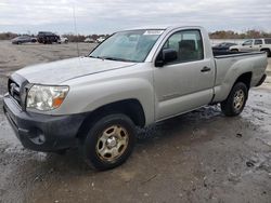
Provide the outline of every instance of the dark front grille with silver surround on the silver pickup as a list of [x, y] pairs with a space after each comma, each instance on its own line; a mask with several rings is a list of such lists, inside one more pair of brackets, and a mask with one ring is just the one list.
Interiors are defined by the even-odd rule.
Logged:
[[23, 77], [14, 73], [9, 78], [8, 90], [10, 96], [13, 100], [22, 108], [25, 109], [25, 99], [26, 99], [26, 84], [28, 81]]

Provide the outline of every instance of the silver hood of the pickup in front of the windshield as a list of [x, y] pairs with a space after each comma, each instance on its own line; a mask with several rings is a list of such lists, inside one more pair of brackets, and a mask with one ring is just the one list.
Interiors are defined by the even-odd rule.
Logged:
[[30, 83], [60, 84], [67, 80], [133, 66], [136, 63], [76, 57], [23, 68], [16, 73]]

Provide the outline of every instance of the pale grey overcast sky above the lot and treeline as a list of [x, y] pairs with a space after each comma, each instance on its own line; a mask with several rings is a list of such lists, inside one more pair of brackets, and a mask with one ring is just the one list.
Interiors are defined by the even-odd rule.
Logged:
[[271, 0], [1, 0], [0, 32], [76, 32], [74, 13], [83, 35], [147, 25], [271, 31]]

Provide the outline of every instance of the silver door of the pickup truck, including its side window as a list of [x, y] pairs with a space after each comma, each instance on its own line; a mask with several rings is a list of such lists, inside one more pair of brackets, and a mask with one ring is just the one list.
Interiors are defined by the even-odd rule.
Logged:
[[207, 105], [215, 82], [214, 59], [204, 57], [199, 30], [177, 31], [163, 49], [176, 50], [178, 58], [154, 70], [156, 120]]

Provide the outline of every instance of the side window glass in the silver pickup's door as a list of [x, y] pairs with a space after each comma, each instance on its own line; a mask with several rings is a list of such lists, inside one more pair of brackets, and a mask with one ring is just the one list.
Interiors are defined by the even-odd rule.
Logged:
[[204, 58], [199, 30], [183, 30], [170, 36], [163, 49], [173, 49], [177, 59], [170, 64], [201, 60]]

